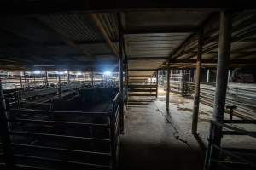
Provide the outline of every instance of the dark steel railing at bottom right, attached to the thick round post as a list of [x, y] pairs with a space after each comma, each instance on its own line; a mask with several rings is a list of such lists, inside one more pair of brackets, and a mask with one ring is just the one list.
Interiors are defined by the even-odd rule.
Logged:
[[[256, 150], [243, 148], [224, 148], [214, 141], [214, 128], [221, 128], [222, 137], [224, 135], [249, 136], [256, 139], [256, 132], [232, 126], [233, 124], [251, 124], [256, 125], [256, 120], [224, 120], [223, 123], [211, 122], [210, 133], [208, 137], [207, 152], [205, 158], [205, 170], [212, 169], [255, 169]], [[234, 140], [236, 142], [236, 140]], [[242, 154], [240, 154], [242, 153]], [[249, 154], [250, 158], [246, 156]], [[252, 156], [253, 155], [253, 156]], [[224, 157], [228, 156], [230, 161], [225, 161]]]

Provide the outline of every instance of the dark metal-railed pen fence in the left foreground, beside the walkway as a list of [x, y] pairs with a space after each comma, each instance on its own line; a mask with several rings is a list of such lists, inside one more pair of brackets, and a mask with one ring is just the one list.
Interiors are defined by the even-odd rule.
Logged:
[[[123, 102], [125, 105], [125, 98]], [[4, 135], [10, 140], [0, 145], [7, 148], [0, 149], [0, 167], [115, 169], [119, 160], [120, 109], [119, 94], [108, 112], [3, 108], [0, 123], [9, 127]]]

